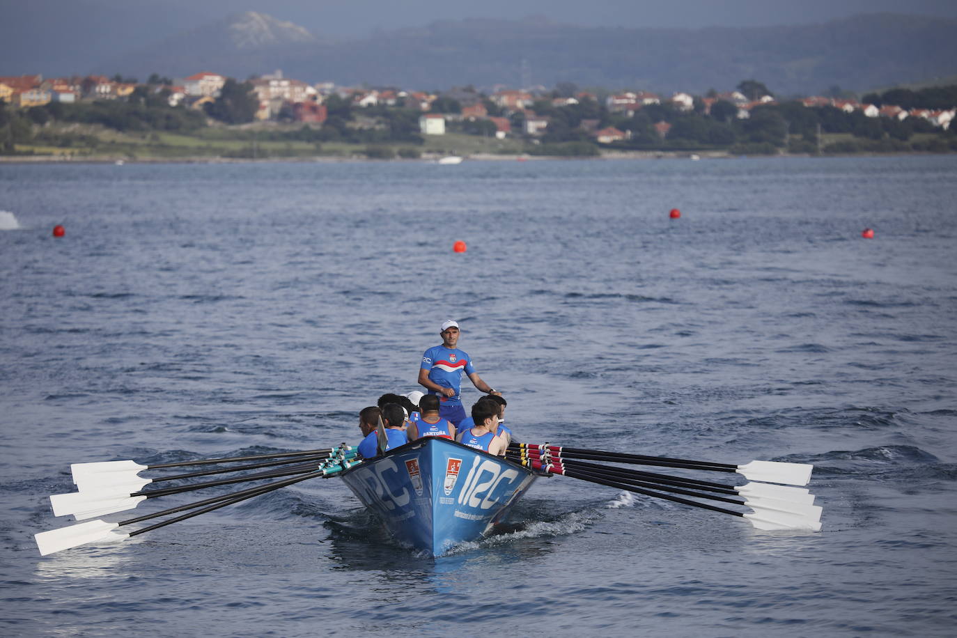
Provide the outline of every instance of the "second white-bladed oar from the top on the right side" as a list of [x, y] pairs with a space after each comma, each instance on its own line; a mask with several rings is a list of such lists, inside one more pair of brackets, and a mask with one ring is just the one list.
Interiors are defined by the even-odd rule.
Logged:
[[724, 483], [714, 483], [712, 481], [702, 481], [696, 478], [687, 478], [685, 476], [641, 472], [638, 470], [630, 470], [628, 468], [619, 468], [617, 466], [597, 465], [595, 463], [588, 463], [586, 461], [569, 459], [562, 454], [549, 454], [547, 452], [543, 453], [536, 450], [523, 452], [510, 450], [506, 453], [506, 456], [513, 460], [521, 460], [523, 458], [529, 458], [531, 460], [543, 462], [548, 462], [548, 459], [560, 460], [564, 465], [571, 469], [581, 468], [586, 470], [595, 470], [605, 473], [612, 473], [618, 476], [638, 478], [640, 480], [646, 480], [653, 483], [661, 483], [663, 485], [674, 485], [676, 487], [686, 487], [696, 490], [703, 490], [705, 492], [714, 492], [717, 494], [764, 496], [767, 498], [790, 500], [795, 503], [803, 503], [805, 505], [812, 505], [814, 502], [814, 495], [812, 495], [805, 488], [771, 485], [768, 483], [727, 485]]

